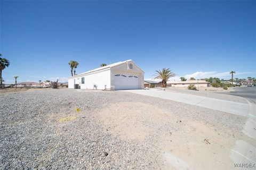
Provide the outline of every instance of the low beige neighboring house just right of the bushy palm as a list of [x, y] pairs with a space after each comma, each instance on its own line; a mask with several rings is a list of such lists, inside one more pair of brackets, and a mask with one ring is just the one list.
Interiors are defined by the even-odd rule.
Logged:
[[204, 80], [189, 80], [189, 81], [167, 81], [167, 87], [188, 87], [194, 84], [199, 87], [209, 87], [210, 82]]

